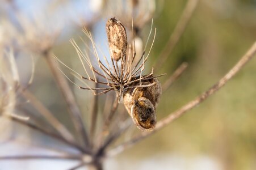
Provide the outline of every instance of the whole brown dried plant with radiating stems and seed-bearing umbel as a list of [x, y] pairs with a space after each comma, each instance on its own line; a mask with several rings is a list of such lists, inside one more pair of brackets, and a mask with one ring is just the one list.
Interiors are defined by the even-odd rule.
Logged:
[[[132, 7], [139, 7], [139, 1], [131, 1]], [[150, 1], [151, 2], [151, 1]], [[196, 6], [198, 5], [198, 0], [188, 0], [187, 5], [184, 8], [183, 14], [179, 19], [177, 26], [174, 29], [174, 32], [171, 34], [169, 42], [166, 45], [166, 48], [163, 49], [163, 52], [160, 54], [160, 58], [156, 63], [156, 66], [161, 65], [161, 63], [165, 62], [166, 58], [169, 56], [174, 46], [179, 41], [184, 29], [186, 28], [188, 21], [190, 20], [193, 12], [195, 11]], [[131, 10], [133, 11], [133, 10]], [[150, 16], [152, 11], [149, 12]], [[133, 14], [133, 12], [132, 12]], [[141, 16], [141, 15], [140, 15]], [[72, 122], [74, 125], [75, 133], [74, 134], [70, 129], [67, 128], [66, 125], [62, 124], [60, 120], [58, 120], [54, 113], [52, 113], [44, 104], [41, 103], [29, 90], [28, 88], [21, 88], [20, 94], [26, 99], [30, 101], [31, 107], [35, 108], [46, 120], [49, 126], [54, 130], [41, 126], [37, 120], [37, 118], [33, 114], [28, 114], [29, 120], [24, 119], [23, 117], [17, 117], [16, 114], [9, 114], [9, 118], [11, 120], [27, 126], [33, 130], [39, 131], [56, 139], [58, 142], [65, 144], [67, 147], [74, 148], [77, 152], [69, 152], [64, 148], [61, 150], [61, 154], [59, 155], [1, 155], [0, 159], [64, 159], [64, 160], [78, 160], [78, 164], [75, 167], [70, 169], [78, 169], [81, 167], [89, 167], [93, 169], [103, 169], [104, 160], [106, 158], [111, 158], [119, 154], [120, 152], [126, 150], [129, 147], [136, 145], [137, 142], [140, 142], [142, 139], [149, 137], [149, 135], [156, 133], [158, 130], [165, 127], [170, 122], [173, 122], [180, 116], [182, 116], [187, 111], [190, 111], [196, 105], [202, 103], [209, 96], [218, 91], [221, 87], [223, 87], [234, 75], [238, 73], [242, 69], [242, 67], [250, 61], [250, 59], [255, 56], [256, 53], [256, 42], [247, 50], [244, 56], [237, 62], [236, 65], [232, 67], [226, 73], [223, 78], [217, 81], [211, 88], [207, 91], [203, 92], [201, 95], [195, 97], [194, 100], [191, 100], [183, 107], [177, 109], [173, 113], [170, 113], [169, 116], [163, 118], [162, 120], [156, 123], [156, 107], [157, 103], [161, 102], [160, 95], [162, 92], [165, 92], [167, 88], [171, 86], [171, 84], [183, 73], [183, 71], [187, 67], [187, 63], [182, 63], [181, 66], [173, 73], [173, 75], [167, 78], [166, 82], [162, 83], [161, 86], [158, 76], [161, 75], [153, 75], [153, 68], [151, 73], [144, 74], [142, 71], [145, 70], [145, 62], [149, 57], [150, 50], [152, 49], [154, 38], [156, 37], [156, 30], [153, 36], [153, 42], [150, 46], [148, 53], [146, 54], [146, 46], [149, 41], [149, 37], [151, 32], [149, 33], [148, 39], [145, 43], [145, 48], [142, 52], [141, 56], [137, 56], [136, 58], [136, 43], [135, 36], [137, 29], [142, 28], [152, 17], [146, 17], [143, 22], [135, 22], [141, 23], [142, 25], [132, 25], [132, 29], [129, 29], [131, 35], [127, 36], [125, 27], [127, 28], [127, 23], [132, 23], [132, 19], [128, 18], [131, 22], [125, 23], [125, 27], [118, 22], [115, 18], [111, 18], [108, 20], [106, 28], [108, 32], [108, 42], [110, 47], [110, 60], [102, 55], [103, 60], [98, 54], [100, 49], [97, 47], [93, 40], [93, 36], [90, 31], [87, 29], [83, 29], [83, 32], [90, 40], [91, 44], [85, 44], [85, 49], [81, 49], [78, 44], [72, 39], [70, 40], [72, 45], [74, 46], [78, 58], [81, 61], [82, 67], [85, 71], [86, 76], [79, 74], [78, 71], [67, 66], [64, 62], [58, 59], [52, 53], [52, 47], [54, 46], [54, 40], [56, 37], [56, 33], [53, 33], [54, 37], [49, 40], [42, 39], [42, 41], [36, 39], [35, 36], [24, 36], [22, 39], [23, 44], [25, 42], [35, 42], [36, 46], [31, 44], [31, 51], [40, 54], [47, 61], [49, 69], [52, 71], [52, 75], [56, 80], [57, 86], [60, 88], [61, 93], [66, 101], [66, 108], [68, 108], [70, 117], [72, 118]], [[141, 19], [137, 17], [137, 19]], [[136, 20], [136, 18], [135, 18]], [[123, 22], [122, 22], [123, 23]], [[135, 26], [135, 27], [134, 27]], [[133, 32], [133, 27], [135, 31]], [[44, 35], [42, 29], [33, 28], [30, 25], [30, 29], [40, 30], [36, 31], [36, 35]], [[28, 31], [24, 28], [25, 31]], [[28, 31], [29, 32], [29, 31]], [[28, 33], [27, 32], [27, 33]], [[35, 37], [35, 39], [33, 39]], [[131, 42], [129, 40], [132, 40]], [[53, 57], [54, 56], [54, 57]], [[93, 57], [96, 58], [96, 65], [93, 65], [91, 59]], [[2, 58], [0, 58], [2, 59]], [[85, 84], [86, 87], [82, 87], [74, 83], [69, 76], [66, 76], [61, 69], [58, 69], [60, 66], [56, 62], [60, 62], [62, 65], [67, 67], [72, 74], [81, 80], [81, 83]], [[14, 57], [9, 59], [11, 63], [11, 69], [16, 68], [13, 65]], [[110, 62], [108, 62], [110, 61]], [[1, 61], [2, 63], [2, 61]], [[33, 72], [33, 71], [32, 71]], [[11, 71], [12, 78], [14, 78], [12, 83], [16, 82], [16, 71]], [[14, 74], [15, 73], [15, 74]], [[14, 87], [14, 84], [7, 84], [6, 82], [6, 74], [1, 71], [0, 80], [3, 84], [1, 85], [2, 90], [4, 91], [1, 97], [5, 96], [6, 86]], [[32, 78], [31, 78], [32, 79]], [[102, 80], [103, 79], [103, 80]], [[92, 105], [92, 112], [85, 113], [90, 114], [90, 120], [87, 122], [89, 126], [86, 126], [86, 121], [82, 118], [81, 110], [78, 107], [78, 103], [75, 100], [75, 96], [73, 91], [71, 90], [68, 80], [78, 86], [81, 89], [91, 90], [93, 91], [94, 100]], [[30, 81], [31, 82], [31, 81]], [[89, 83], [95, 83], [95, 87], [91, 87]], [[30, 84], [30, 83], [28, 83]], [[103, 114], [98, 113], [98, 104], [99, 104], [99, 96], [100, 94], [107, 94], [110, 91], [115, 91], [116, 95], [114, 99], [106, 100], [105, 108], [103, 110]], [[15, 91], [16, 95], [16, 91]], [[107, 97], [111, 98], [111, 94], [108, 93]], [[124, 106], [127, 109], [127, 112], [132, 117], [133, 122], [142, 130], [138, 135], [132, 137], [128, 141], [121, 141], [121, 136], [125, 131], [127, 131], [131, 127], [131, 118], [126, 117], [127, 113], [118, 111], [117, 107], [119, 103], [123, 100]], [[1, 99], [2, 101], [2, 99]], [[6, 101], [6, 100], [5, 100]], [[2, 103], [1, 103], [2, 104]], [[5, 108], [5, 107], [3, 107]], [[1, 115], [3, 112], [2, 105], [0, 107]], [[98, 116], [102, 116], [102, 122], [98, 121]], [[32, 121], [31, 121], [32, 120]], [[98, 131], [96, 129], [99, 129]], [[146, 131], [146, 132], [144, 132]], [[117, 139], [120, 139], [121, 142], [115, 143]]]

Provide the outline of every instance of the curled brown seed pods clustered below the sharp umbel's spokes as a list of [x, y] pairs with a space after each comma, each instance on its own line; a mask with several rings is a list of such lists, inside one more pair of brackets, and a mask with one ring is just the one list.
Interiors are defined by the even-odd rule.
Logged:
[[156, 106], [162, 94], [161, 84], [157, 78], [153, 78], [141, 82], [141, 85], [152, 83], [149, 87], [131, 88], [124, 94], [125, 108], [137, 128], [143, 131], [153, 130], [157, 122]]

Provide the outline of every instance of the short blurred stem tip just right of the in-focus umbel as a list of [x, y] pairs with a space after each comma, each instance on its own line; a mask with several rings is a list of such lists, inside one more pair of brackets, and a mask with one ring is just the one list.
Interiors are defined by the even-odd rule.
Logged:
[[174, 71], [173, 75], [169, 77], [169, 79], [166, 80], [166, 82], [162, 86], [162, 91], [166, 91], [171, 84], [183, 73], [184, 70], [187, 68], [187, 63], [183, 62], [177, 70]]

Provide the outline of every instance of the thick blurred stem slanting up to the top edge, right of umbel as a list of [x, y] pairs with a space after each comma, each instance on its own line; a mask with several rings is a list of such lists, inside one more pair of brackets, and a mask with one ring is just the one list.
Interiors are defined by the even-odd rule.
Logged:
[[191, 19], [191, 16], [194, 14], [196, 6], [198, 5], [199, 0], [188, 0], [186, 7], [184, 8], [181, 18], [174, 28], [173, 33], [171, 34], [169, 41], [166, 43], [165, 48], [163, 48], [157, 62], [154, 64], [154, 68], [159, 68], [166, 59], [169, 57], [170, 53], [173, 51], [174, 46], [177, 45], [177, 42], [183, 35], [184, 30], [187, 27], [188, 22]]

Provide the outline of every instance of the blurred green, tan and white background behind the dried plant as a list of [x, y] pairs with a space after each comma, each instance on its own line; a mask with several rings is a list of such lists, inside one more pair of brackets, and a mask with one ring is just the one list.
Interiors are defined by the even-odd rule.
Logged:
[[[130, 22], [127, 20], [131, 18], [130, 15], [125, 15], [125, 12], [129, 14], [128, 2], [130, 1], [0, 1], [0, 53], [4, 49], [14, 49], [22, 84], [26, 84], [31, 76], [30, 56], [35, 58], [35, 78], [30, 91], [56, 113], [54, 116], [69, 129], [73, 129], [73, 126], [70, 124], [64, 100], [47, 63], [38, 52], [50, 44], [53, 53], [61, 61], [81, 72], [81, 63], [69, 39], [74, 38], [78, 44], [82, 44], [79, 36], [84, 37], [82, 28], [86, 27], [92, 32], [96, 44], [108, 56], [106, 20], [115, 16], [125, 27], [129, 27]], [[135, 17], [142, 44], [145, 44], [148, 37], [151, 18], [154, 18], [153, 28], [157, 28], [156, 40], [147, 63], [148, 71], [153, 63], [161, 60], [158, 56], [177, 25], [186, 2], [131, 1], [140, 4], [133, 11], [136, 16], [145, 16], [137, 22]], [[45, 43], [36, 44], [35, 39]], [[160, 82], [165, 82], [182, 62], [188, 63], [182, 76], [162, 94], [157, 108], [157, 120], [182, 107], [216, 83], [255, 40], [255, 0], [200, 0], [167, 61], [161, 67], [154, 68], [157, 73], [167, 73], [167, 76], [160, 78]], [[136, 45], [140, 44], [140, 41], [136, 42]], [[104, 167], [256, 169], [255, 66], [256, 59], [253, 58], [215, 95], [156, 134], [115, 158], [107, 159]], [[76, 87], [73, 90], [86, 121], [89, 119], [87, 113], [93, 94]], [[106, 95], [100, 96], [99, 112], [103, 111], [104, 99]], [[19, 99], [17, 102], [24, 103], [24, 100]], [[23, 109], [41, 118], [29, 104], [22, 105]], [[1, 122], [1, 155], [53, 152], [52, 149], [48, 151], [40, 146], [56, 147], [54, 141], [44, 135], [7, 120], [1, 119]], [[139, 130], [133, 127], [128, 133], [137, 131]], [[42, 164], [43, 169], [68, 169], [75, 162], [0, 160], [0, 169], [41, 169]]]

